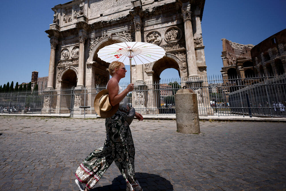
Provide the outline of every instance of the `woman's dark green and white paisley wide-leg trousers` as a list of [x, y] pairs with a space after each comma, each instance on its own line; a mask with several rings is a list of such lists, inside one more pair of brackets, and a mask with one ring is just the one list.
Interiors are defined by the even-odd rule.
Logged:
[[126, 190], [142, 190], [135, 177], [135, 148], [129, 125], [125, 122], [126, 110], [119, 110], [105, 120], [106, 139], [103, 147], [95, 149], [86, 157], [76, 170], [76, 177], [81, 183], [91, 189], [102, 177], [114, 161], [123, 178], [126, 180]]

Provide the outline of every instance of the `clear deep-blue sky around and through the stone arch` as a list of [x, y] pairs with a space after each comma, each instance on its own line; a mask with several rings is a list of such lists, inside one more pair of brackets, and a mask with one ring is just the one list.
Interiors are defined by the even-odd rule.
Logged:
[[[52, 7], [66, 0], [1, 1], [0, 85], [31, 81], [31, 72], [48, 76], [50, 43], [45, 30], [53, 22]], [[256, 45], [286, 28], [285, 0], [206, 0], [202, 37], [208, 75], [221, 75], [222, 38]], [[128, 68], [128, 66], [126, 66]], [[178, 78], [166, 69], [161, 79]], [[130, 79], [129, 71], [125, 81]]]

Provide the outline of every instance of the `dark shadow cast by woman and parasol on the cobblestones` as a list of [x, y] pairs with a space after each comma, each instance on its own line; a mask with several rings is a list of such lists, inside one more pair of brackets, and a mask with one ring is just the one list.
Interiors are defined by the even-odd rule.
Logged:
[[[170, 181], [166, 180], [156, 174], [148, 174], [148, 173], [135, 173], [136, 178], [138, 179], [140, 186], [144, 191], [149, 190], [173, 190], [173, 185]], [[126, 182], [122, 175], [114, 178], [112, 180], [111, 185], [106, 185], [102, 187], [96, 187], [91, 189], [90, 191], [99, 191], [99, 190], [115, 190], [115, 191], [123, 191], [126, 190]]]

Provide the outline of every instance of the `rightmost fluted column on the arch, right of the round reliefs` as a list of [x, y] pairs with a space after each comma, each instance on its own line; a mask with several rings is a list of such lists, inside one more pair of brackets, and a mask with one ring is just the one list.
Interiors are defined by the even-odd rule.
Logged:
[[186, 40], [186, 52], [187, 52], [187, 63], [188, 63], [188, 77], [198, 77], [194, 36], [192, 29], [192, 17], [189, 4], [186, 5], [186, 3], [183, 3], [182, 15], [184, 19], [184, 29], [186, 38], [185, 40]]

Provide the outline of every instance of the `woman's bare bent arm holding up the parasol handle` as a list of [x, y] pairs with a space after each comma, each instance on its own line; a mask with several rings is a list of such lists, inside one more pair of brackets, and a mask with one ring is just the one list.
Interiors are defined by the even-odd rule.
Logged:
[[107, 86], [108, 94], [109, 94], [109, 101], [111, 105], [116, 105], [120, 103], [128, 94], [134, 89], [134, 84], [129, 84], [125, 90], [123, 90], [120, 94], [118, 94], [119, 86], [116, 80], [110, 80]]

